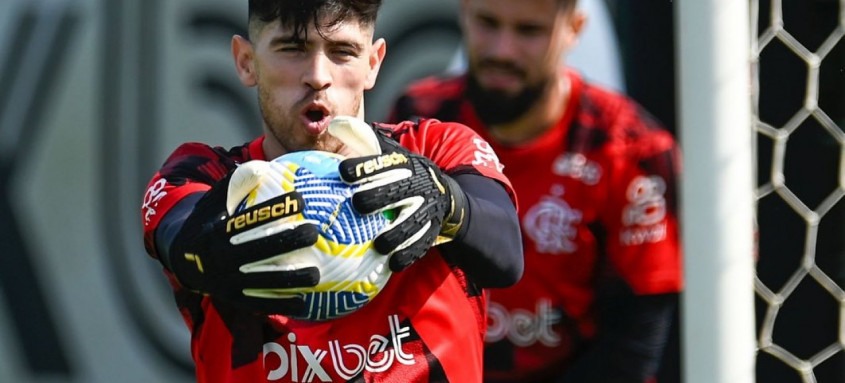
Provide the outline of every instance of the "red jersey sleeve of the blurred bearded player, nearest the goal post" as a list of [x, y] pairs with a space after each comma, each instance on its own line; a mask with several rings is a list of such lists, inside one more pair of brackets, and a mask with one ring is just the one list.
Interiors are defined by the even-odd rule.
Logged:
[[677, 183], [680, 152], [671, 135], [632, 103], [618, 115], [609, 203], [607, 253], [635, 294], [682, 288]]

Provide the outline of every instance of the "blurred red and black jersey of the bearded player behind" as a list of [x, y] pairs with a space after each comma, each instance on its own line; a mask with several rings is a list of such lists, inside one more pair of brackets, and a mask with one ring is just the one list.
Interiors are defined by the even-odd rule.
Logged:
[[598, 295], [676, 293], [679, 150], [629, 98], [572, 70], [557, 123], [530, 142], [495, 142], [465, 96], [466, 75], [423, 79], [392, 119], [466, 124], [488, 141], [519, 203], [525, 272], [491, 291], [485, 348], [489, 381], [539, 381], [585, 352], [597, 331]]

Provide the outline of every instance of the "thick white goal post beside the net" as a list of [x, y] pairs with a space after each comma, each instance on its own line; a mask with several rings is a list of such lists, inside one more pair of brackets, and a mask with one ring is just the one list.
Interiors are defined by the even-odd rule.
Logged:
[[754, 160], [749, 2], [675, 6], [683, 150], [685, 383], [753, 383]]

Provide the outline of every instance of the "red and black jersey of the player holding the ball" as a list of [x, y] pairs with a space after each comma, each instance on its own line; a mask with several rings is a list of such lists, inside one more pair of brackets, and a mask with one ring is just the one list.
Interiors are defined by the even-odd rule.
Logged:
[[[427, 120], [382, 127], [447, 174], [480, 174], [513, 196], [490, 146], [465, 126]], [[155, 230], [168, 210], [209, 189], [237, 164], [265, 159], [263, 139], [229, 150], [189, 143], [170, 155], [150, 181], [142, 207], [151, 256], [157, 256]], [[394, 273], [360, 310], [324, 322], [218, 307], [165, 274], [191, 330], [198, 382], [481, 381], [486, 300], [437, 248]]]

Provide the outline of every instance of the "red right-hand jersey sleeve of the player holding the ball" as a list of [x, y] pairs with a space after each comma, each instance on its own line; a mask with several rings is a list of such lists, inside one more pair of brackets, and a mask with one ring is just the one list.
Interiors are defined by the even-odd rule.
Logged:
[[397, 125], [399, 143], [431, 159], [446, 174], [475, 173], [498, 181], [514, 205], [516, 194], [492, 146], [466, 125], [423, 119]]

